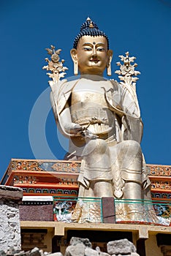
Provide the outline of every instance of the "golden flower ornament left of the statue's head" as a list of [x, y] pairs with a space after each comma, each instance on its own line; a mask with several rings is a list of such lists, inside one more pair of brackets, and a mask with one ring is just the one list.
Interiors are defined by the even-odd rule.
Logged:
[[58, 83], [60, 78], [64, 78], [64, 75], [66, 75], [65, 70], [67, 70], [67, 67], [63, 67], [64, 59], [59, 58], [59, 54], [61, 53], [61, 49], [55, 50], [55, 46], [50, 45], [50, 48], [46, 48], [47, 53], [51, 56], [51, 61], [46, 58], [45, 61], [48, 62], [47, 66], [42, 67], [42, 69], [49, 70], [51, 73], [47, 73], [49, 78], [53, 79], [54, 83]]

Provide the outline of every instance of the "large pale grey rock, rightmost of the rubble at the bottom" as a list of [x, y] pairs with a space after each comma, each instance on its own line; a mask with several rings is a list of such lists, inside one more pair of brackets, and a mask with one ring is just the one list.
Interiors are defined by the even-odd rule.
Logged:
[[132, 252], [136, 252], [136, 247], [128, 239], [121, 239], [107, 243], [107, 252], [110, 255], [130, 255]]

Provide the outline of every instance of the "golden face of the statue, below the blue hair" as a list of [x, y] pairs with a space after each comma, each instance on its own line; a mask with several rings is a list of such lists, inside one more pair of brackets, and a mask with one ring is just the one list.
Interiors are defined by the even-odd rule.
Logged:
[[83, 36], [78, 41], [77, 50], [71, 50], [72, 59], [77, 61], [82, 75], [102, 75], [111, 52], [107, 50], [107, 39], [100, 36]]

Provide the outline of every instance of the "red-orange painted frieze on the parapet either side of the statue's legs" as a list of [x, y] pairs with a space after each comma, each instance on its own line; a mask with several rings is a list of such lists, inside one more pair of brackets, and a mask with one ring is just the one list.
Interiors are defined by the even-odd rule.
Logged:
[[[171, 166], [147, 165], [147, 167], [151, 179], [152, 198], [171, 200]], [[34, 173], [31, 174], [32, 171]], [[45, 179], [46, 174], [50, 177], [53, 176], [53, 173], [56, 173], [54, 177], [47, 181]], [[66, 173], [69, 175], [67, 176]], [[75, 173], [75, 176], [71, 176], [72, 173]], [[22, 187], [25, 193], [77, 195], [77, 176], [79, 173], [79, 161], [12, 159], [1, 184]], [[48, 183], [48, 187], [39, 188], [41, 186], [38, 187], [38, 185], [41, 184], [43, 187], [44, 182]], [[53, 183], [56, 184], [55, 189], [52, 186]], [[30, 187], [27, 188], [24, 184], [27, 186], [30, 184]]]

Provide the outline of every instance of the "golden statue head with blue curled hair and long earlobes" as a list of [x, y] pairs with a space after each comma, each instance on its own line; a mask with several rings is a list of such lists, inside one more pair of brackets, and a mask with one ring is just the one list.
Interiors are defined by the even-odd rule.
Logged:
[[111, 75], [113, 51], [109, 50], [109, 39], [90, 18], [81, 26], [73, 47], [71, 56], [75, 75], [78, 69], [81, 75], [103, 75], [105, 68], [107, 75]]

